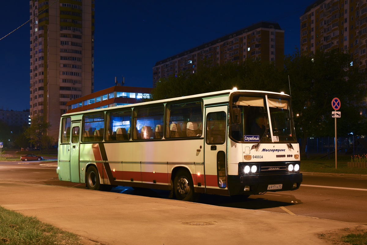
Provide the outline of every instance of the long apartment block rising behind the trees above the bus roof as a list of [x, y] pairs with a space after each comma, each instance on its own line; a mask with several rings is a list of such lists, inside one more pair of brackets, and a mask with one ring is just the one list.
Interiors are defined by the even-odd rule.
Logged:
[[284, 30], [276, 22], [258, 22], [157, 61], [153, 66], [153, 88], [160, 78], [186, 71], [195, 73], [203, 60], [219, 65], [227, 62], [239, 64], [247, 58], [275, 62], [275, 66], [281, 68], [283, 57]]

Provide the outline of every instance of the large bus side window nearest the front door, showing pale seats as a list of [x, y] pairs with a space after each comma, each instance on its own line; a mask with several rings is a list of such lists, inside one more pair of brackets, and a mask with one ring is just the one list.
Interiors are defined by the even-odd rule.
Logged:
[[165, 138], [200, 137], [203, 134], [201, 101], [167, 105]]

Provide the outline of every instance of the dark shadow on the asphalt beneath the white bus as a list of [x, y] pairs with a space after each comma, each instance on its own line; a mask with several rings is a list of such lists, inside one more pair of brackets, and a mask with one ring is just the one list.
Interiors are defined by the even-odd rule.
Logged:
[[[127, 186], [118, 186], [112, 188], [111, 192], [123, 193], [128, 195], [138, 195], [143, 197], [155, 197], [169, 199], [170, 191], [155, 190], [146, 188], [136, 188]], [[277, 192], [279, 193], [279, 192]], [[266, 209], [277, 208], [280, 206], [290, 206], [301, 204], [301, 200], [295, 198], [290, 194], [264, 194], [264, 195], [251, 195], [250, 197], [242, 200], [236, 200], [232, 197], [201, 194], [198, 203], [223, 206], [229, 208], [243, 208], [243, 209]]]

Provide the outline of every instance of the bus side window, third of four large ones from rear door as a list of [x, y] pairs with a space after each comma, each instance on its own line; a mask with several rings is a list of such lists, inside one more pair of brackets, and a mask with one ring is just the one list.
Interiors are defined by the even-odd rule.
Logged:
[[160, 139], [163, 137], [163, 105], [134, 109], [132, 139]]

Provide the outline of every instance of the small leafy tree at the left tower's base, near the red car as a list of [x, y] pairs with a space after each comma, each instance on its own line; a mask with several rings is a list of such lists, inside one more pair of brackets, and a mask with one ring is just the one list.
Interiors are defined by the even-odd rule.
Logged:
[[51, 124], [44, 120], [43, 115], [37, 114], [32, 118], [29, 128], [25, 130], [25, 135], [29, 138], [30, 143], [39, 146], [41, 153], [43, 149], [42, 137], [47, 135], [47, 130], [50, 127]]

